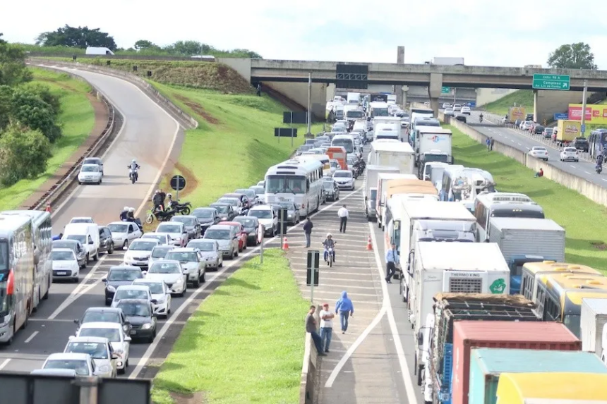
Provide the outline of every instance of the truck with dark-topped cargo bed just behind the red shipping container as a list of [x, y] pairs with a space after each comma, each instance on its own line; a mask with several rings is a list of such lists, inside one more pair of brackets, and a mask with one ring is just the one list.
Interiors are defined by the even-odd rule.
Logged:
[[[423, 329], [423, 374], [414, 366], [417, 384], [426, 403], [451, 401], [453, 371], [453, 324], [455, 320], [541, 322], [536, 305], [522, 295], [492, 293], [438, 293], [428, 326]], [[419, 334], [418, 334], [419, 342]]]

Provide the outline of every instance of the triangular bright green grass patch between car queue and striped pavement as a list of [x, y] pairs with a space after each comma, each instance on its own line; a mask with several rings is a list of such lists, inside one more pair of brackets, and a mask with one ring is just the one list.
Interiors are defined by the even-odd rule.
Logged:
[[284, 254], [265, 250], [263, 264], [246, 262], [192, 314], [154, 380], [153, 402], [296, 403], [307, 307]]

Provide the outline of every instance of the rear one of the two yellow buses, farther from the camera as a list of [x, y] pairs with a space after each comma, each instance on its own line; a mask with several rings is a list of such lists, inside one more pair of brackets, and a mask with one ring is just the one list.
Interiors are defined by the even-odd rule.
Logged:
[[551, 274], [601, 275], [599, 271], [586, 265], [555, 261], [526, 262], [521, 269], [521, 295], [534, 302], [537, 295], [537, 284], [540, 282], [545, 284], [546, 276]]

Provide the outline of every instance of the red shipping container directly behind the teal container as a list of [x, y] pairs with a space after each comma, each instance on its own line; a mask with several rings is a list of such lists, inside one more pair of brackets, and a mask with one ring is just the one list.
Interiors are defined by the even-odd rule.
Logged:
[[471, 348], [582, 350], [582, 341], [561, 323], [456, 320], [452, 404], [468, 404]]

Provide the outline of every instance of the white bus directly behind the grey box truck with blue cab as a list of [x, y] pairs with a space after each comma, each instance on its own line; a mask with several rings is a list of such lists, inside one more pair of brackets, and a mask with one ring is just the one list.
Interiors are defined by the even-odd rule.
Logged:
[[[445, 176], [445, 173], [443, 173]], [[527, 217], [546, 219], [543, 209], [530, 197], [515, 192], [485, 192], [474, 201], [477, 240], [489, 238], [489, 221], [492, 217]]]

